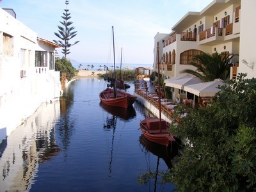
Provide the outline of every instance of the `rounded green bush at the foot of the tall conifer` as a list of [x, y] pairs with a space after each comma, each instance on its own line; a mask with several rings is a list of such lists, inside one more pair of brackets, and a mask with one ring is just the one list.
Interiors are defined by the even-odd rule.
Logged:
[[66, 78], [70, 81], [74, 76], [77, 75], [78, 70], [72, 66], [72, 63], [66, 58], [57, 59], [55, 61], [55, 70], [66, 73]]

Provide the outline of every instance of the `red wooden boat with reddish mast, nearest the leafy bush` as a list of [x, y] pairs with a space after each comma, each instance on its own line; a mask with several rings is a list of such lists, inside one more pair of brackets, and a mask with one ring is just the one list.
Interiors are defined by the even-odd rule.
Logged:
[[[160, 80], [160, 69], [159, 69], [159, 47], [157, 47], [157, 65], [158, 65], [158, 84]], [[159, 95], [161, 95], [161, 90], [158, 89]], [[161, 97], [158, 99], [159, 103], [159, 118], [148, 117], [140, 122], [141, 133], [147, 140], [150, 140], [154, 143], [158, 143], [160, 145], [165, 145], [168, 147], [170, 143], [175, 141], [172, 135], [170, 135], [168, 128], [170, 124], [161, 118]]]

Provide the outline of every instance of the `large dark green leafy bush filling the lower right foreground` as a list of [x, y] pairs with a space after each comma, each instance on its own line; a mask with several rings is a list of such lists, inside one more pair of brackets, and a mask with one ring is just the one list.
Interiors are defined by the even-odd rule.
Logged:
[[245, 76], [172, 124], [186, 144], [170, 176], [178, 191], [256, 190], [256, 80]]

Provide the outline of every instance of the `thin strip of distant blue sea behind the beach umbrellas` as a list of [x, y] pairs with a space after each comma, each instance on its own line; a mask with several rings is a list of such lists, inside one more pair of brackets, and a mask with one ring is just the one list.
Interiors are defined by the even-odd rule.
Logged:
[[[77, 61], [70, 61], [72, 63], [72, 66], [75, 68], [79, 68], [79, 65], [81, 65], [80, 68], [86, 69], [86, 70], [104, 70], [104, 65], [108, 67], [109, 70], [113, 69], [114, 64], [113, 63], [78, 63]], [[93, 67], [92, 67], [93, 65]], [[116, 69], [120, 68], [120, 63], [116, 63]], [[128, 64], [128, 63], [122, 63], [122, 68], [129, 67], [131, 69], [134, 69], [136, 67], [153, 67], [153, 64]]]

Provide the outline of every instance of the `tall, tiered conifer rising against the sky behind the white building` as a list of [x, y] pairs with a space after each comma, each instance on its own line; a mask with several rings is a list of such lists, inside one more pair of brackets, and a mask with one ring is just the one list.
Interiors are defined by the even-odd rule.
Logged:
[[60, 21], [62, 26], [58, 26], [58, 32], [59, 33], [54, 33], [54, 35], [58, 36], [61, 40], [53, 40], [56, 44], [60, 45], [62, 49], [62, 53], [64, 54], [65, 58], [67, 54], [70, 54], [70, 49], [72, 45], [76, 45], [79, 41], [74, 42], [74, 44], [70, 44], [69, 40], [74, 38], [74, 36], [77, 35], [77, 31], [73, 31], [75, 28], [72, 27], [71, 25], [73, 22], [68, 21], [71, 19], [69, 10], [68, 10], [68, 0], [65, 1], [66, 4], [66, 9], [64, 10], [65, 12], [63, 13], [64, 16], [61, 16], [63, 21]]

